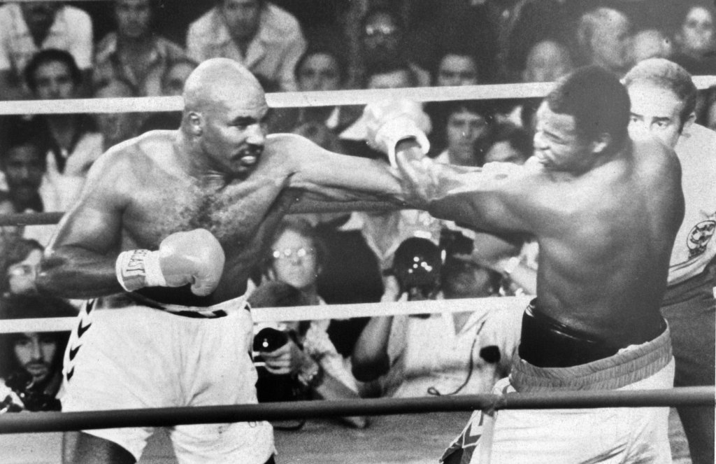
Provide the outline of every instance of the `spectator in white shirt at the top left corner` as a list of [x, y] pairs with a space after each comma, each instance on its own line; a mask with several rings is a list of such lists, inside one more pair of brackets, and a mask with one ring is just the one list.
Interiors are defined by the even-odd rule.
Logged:
[[[0, 6], [0, 97], [22, 98], [23, 72], [42, 49], [66, 50], [84, 77], [92, 67], [92, 20], [62, 1], [28, 1]], [[83, 82], [88, 82], [84, 79]]]

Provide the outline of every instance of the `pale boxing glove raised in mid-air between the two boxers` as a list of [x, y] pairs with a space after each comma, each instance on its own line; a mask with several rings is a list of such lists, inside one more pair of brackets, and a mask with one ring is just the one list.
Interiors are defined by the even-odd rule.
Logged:
[[430, 133], [430, 118], [419, 103], [410, 100], [387, 100], [371, 103], [363, 110], [368, 145], [388, 155], [395, 166], [395, 146], [407, 138], [415, 138], [422, 153], [430, 150], [425, 133]]

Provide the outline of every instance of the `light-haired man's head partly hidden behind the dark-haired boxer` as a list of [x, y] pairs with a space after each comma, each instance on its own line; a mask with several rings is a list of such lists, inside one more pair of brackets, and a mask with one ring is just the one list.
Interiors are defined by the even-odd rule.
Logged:
[[697, 90], [683, 67], [663, 58], [639, 62], [624, 77], [632, 100], [629, 134], [649, 133], [670, 147], [696, 118]]

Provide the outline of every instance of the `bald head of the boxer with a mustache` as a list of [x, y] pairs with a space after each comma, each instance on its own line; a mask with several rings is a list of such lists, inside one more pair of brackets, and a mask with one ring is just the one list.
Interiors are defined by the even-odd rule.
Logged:
[[184, 86], [182, 130], [206, 167], [247, 176], [266, 143], [266, 95], [256, 77], [227, 58], [202, 62]]

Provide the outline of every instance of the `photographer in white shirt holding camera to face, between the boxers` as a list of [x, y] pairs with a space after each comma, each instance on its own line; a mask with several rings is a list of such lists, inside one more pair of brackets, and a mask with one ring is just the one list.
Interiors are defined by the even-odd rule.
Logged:
[[[392, 276], [384, 301], [441, 300], [443, 275], [450, 291], [460, 286], [458, 298], [495, 295], [491, 273], [475, 265], [455, 265], [456, 254], [468, 254], [465, 239], [443, 240], [448, 261], [430, 240], [412, 237], [395, 252]], [[456, 248], [457, 247], [457, 248]], [[478, 276], [484, 275], [484, 278]], [[441, 288], [442, 286], [442, 288]], [[455, 295], [450, 295], [455, 296]], [[492, 311], [475, 307], [461, 313], [412, 314], [374, 317], [364, 328], [353, 351], [353, 374], [363, 382], [377, 381], [382, 396], [423, 397], [489, 392], [504, 374], [494, 337], [485, 337]]]

